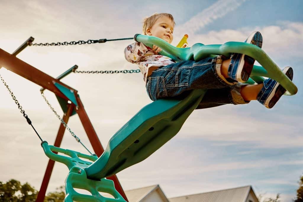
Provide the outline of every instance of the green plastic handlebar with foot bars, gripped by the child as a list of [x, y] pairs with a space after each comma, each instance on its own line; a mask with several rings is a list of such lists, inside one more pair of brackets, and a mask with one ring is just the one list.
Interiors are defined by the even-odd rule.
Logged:
[[[242, 53], [255, 58], [261, 66], [254, 65], [252, 76], [265, 76], [272, 78], [279, 82], [287, 92], [287, 95], [294, 95], [298, 88], [295, 84], [281, 71], [274, 61], [259, 47], [244, 43], [230, 41], [222, 45], [203, 45], [201, 43], [194, 44], [190, 48], [176, 48], [166, 41], [148, 35], [135, 35], [135, 40], [152, 46], [153, 44], [160, 47], [163, 51], [161, 55], [168, 56], [176, 61], [195, 60], [200, 61], [210, 55], [225, 55], [229, 56], [231, 53]], [[256, 77], [255, 77], [256, 78]], [[258, 81], [260, 80], [257, 79]]]

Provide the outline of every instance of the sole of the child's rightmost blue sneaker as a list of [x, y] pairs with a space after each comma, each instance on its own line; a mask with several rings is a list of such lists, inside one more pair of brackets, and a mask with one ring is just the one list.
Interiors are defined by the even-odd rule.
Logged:
[[[283, 73], [292, 81], [293, 78], [293, 69], [291, 67], [285, 67], [283, 69]], [[274, 93], [273, 93], [274, 92]], [[282, 97], [282, 95], [286, 92], [285, 88], [283, 88], [282, 85], [280, 85], [278, 82], [275, 84], [274, 88], [268, 95], [268, 98], [266, 99], [264, 106], [266, 108], [273, 108], [275, 104], [278, 102], [278, 100]]]

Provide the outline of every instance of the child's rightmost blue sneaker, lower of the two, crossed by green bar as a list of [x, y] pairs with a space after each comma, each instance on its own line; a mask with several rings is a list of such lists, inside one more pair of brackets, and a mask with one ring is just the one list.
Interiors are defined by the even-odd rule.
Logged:
[[[291, 67], [285, 67], [283, 69], [285, 75], [292, 81], [293, 78], [293, 70]], [[286, 92], [285, 88], [283, 88], [277, 81], [272, 78], [268, 78], [263, 81], [263, 88], [259, 92], [257, 96], [257, 100], [264, 105], [266, 108], [272, 108], [278, 100], [282, 97], [282, 95]]]

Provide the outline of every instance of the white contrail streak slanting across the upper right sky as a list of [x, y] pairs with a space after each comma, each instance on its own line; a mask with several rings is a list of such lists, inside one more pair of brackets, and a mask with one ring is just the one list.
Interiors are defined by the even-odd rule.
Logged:
[[[186, 33], [195, 33], [218, 18], [238, 8], [246, 0], [219, 0], [181, 25]], [[182, 32], [181, 32], [182, 33]]]

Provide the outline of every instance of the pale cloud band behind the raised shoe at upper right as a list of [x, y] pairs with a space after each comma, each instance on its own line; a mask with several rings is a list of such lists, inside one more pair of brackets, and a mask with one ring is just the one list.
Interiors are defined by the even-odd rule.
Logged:
[[[223, 44], [228, 41], [245, 41], [252, 31], [260, 31], [263, 36], [262, 49], [274, 59], [289, 60], [301, 57], [303, 46], [302, 22], [278, 22], [264, 27], [245, 27], [236, 30], [209, 31], [206, 34], [189, 35], [190, 45], [200, 42], [205, 45]], [[286, 58], [287, 57], [287, 58]]]

